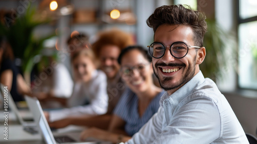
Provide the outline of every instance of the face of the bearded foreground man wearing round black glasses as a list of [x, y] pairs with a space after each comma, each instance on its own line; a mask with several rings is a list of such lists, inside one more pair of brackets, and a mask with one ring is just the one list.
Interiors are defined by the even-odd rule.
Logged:
[[161, 87], [172, 94], [198, 73], [199, 66], [196, 65], [197, 52], [194, 48], [190, 47], [185, 57], [177, 59], [171, 55], [168, 46], [174, 42], [194, 46], [193, 30], [185, 25], [161, 25], [155, 32], [154, 42], [167, 46], [163, 57], [153, 58], [153, 69]]

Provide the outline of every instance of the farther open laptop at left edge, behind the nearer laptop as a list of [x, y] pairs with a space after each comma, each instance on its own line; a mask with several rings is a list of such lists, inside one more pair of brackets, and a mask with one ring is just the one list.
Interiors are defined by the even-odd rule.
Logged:
[[[0, 84], [0, 95], [1, 99], [4, 98], [4, 85]], [[23, 129], [31, 134], [36, 134], [38, 133], [37, 127], [36, 127], [36, 121], [24, 121], [20, 111], [17, 109], [17, 106], [10, 94], [10, 92], [8, 92], [8, 107], [10, 107], [11, 112], [15, 115], [15, 117], [17, 118], [17, 121], [19, 121], [19, 123], [23, 126]]]

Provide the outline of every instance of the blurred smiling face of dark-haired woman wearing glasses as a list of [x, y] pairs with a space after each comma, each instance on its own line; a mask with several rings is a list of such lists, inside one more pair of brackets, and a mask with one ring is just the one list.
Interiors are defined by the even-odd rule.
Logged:
[[121, 78], [135, 93], [145, 92], [151, 87], [152, 74], [150, 62], [136, 49], [127, 52], [121, 59]]

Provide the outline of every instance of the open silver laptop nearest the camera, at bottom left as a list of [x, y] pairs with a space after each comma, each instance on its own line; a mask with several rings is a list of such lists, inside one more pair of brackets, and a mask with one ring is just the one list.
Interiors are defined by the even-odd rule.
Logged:
[[29, 109], [31, 110], [35, 121], [38, 121], [38, 127], [42, 132], [43, 138], [47, 144], [56, 144], [56, 143], [84, 143], [84, 144], [96, 144], [96, 143], [102, 143], [101, 141], [90, 141], [90, 142], [77, 142], [76, 140], [72, 139], [69, 136], [61, 136], [58, 137], [53, 136], [50, 127], [48, 125], [48, 122], [45, 118], [44, 112], [42, 110], [42, 107], [40, 105], [40, 102], [35, 97], [28, 97], [25, 96], [25, 100], [29, 106]]

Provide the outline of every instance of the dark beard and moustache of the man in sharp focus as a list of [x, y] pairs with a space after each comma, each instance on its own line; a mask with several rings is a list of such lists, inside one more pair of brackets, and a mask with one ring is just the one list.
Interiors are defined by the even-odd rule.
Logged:
[[181, 79], [178, 82], [176, 82], [176, 84], [174, 84], [174, 85], [165, 86], [164, 82], [172, 81], [174, 78], [173, 77], [164, 77], [163, 79], [160, 80], [160, 78], [158, 76], [158, 73], [157, 73], [158, 66], [186, 67], [186, 64], [184, 64], [184, 63], [183, 64], [178, 64], [178, 63], [169, 63], [169, 64], [166, 64], [166, 63], [156, 63], [155, 66], [153, 65], [154, 74], [158, 78], [159, 84], [160, 84], [161, 88], [163, 88], [165, 91], [170, 91], [172, 89], [175, 89], [175, 88], [178, 88], [178, 87], [182, 86], [183, 84], [187, 83], [189, 80], [191, 80], [193, 78], [194, 73], [195, 73], [195, 63], [196, 63], [196, 59], [194, 59], [193, 64], [189, 64], [186, 73], [182, 73], [183, 75], [182, 75]]

